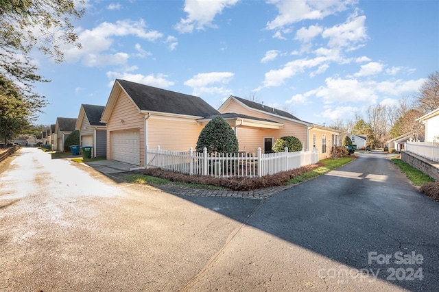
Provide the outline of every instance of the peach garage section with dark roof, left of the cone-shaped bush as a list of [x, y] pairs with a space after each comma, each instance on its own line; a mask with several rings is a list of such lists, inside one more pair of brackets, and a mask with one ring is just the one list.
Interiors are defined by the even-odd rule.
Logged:
[[115, 80], [101, 122], [107, 125], [107, 159], [145, 167], [146, 147], [189, 150], [203, 125], [219, 114], [200, 97]]

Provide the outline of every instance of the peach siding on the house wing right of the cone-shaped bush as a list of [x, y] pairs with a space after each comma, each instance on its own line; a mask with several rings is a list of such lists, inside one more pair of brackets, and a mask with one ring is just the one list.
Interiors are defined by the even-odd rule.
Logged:
[[[277, 138], [281, 138], [283, 136], [294, 136], [300, 140], [300, 142], [303, 143], [303, 147], [307, 149], [307, 126], [306, 125], [300, 125], [297, 123], [294, 123], [293, 121], [289, 121], [287, 119], [282, 119], [278, 117], [274, 117], [270, 114], [264, 114], [263, 112], [257, 112], [248, 110], [247, 108], [244, 108], [244, 106], [241, 106], [238, 104], [235, 100], [232, 100], [230, 104], [222, 110], [222, 113], [228, 113], [228, 112], [235, 112], [237, 114], [246, 114], [250, 117], [257, 117], [261, 119], [268, 119], [270, 121], [276, 121], [278, 123], [283, 123], [283, 129], [276, 130], [276, 129], [261, 129], [261, 134], [259, 132], [253, 132], [252, 134], [244, 134], [243, 136], [240, 136], [239, 127], [238, 127], [238, 141], [239, 141], [239, 149], [241, 150], [241, 144], [242, 145], [251, 145], [252, 149], [256, 145], [259, 145], [256, 147], [261, 147], [263, 149], [263, 138], [261, 137], [273, 137], [273, 143], [276, 141]], [[255, 141], [252, 141], [255, 140]], [[256, 149], [252, 151], [256, 151]]]

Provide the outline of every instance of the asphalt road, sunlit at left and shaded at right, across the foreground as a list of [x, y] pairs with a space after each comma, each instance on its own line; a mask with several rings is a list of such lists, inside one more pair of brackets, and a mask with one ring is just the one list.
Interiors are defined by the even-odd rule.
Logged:
[[238, 199], [23, 148], [0, 163], [0, 291], [437, 291], [439, 204], [386, 157]]

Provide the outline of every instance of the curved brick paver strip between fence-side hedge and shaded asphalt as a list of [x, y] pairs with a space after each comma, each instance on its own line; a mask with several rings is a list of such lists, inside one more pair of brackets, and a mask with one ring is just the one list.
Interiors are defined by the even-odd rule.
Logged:
[[182, 195], [189, 197], [241, 197], [247, 199], [265, 199], [276, 195], [281, 191], [291, 188], [291, 186], [274, 186], [270, 188], [261, 188], [254, 191], [228, 191], [228, 190], [208, 190], [203, 188], [187, 188], [185, 186], [176, 186], [173, 184], [165, 184], [156, 186], [167, 193], [173, 195]]

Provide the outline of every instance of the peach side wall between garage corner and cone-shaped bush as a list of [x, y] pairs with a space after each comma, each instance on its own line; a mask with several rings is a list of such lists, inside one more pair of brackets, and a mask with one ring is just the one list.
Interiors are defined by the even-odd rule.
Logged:
[[197, 145], [203, 126], [195, 119], [179, 119], [152, 115], [147, 120], [147, 144], [150, 148], [189, 151]]

